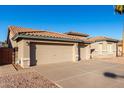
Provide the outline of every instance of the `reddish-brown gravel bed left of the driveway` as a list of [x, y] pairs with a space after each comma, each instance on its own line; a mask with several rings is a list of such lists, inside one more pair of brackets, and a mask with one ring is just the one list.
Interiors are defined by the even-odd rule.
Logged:
[[37, 72], [19, 72], [0, 76], [1, 88], [57, 88], [58, 86]]

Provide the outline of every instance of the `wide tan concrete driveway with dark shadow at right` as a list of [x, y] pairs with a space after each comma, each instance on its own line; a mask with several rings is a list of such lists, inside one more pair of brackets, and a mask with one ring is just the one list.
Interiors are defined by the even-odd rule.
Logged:
[[65, 88], [124, 87], [124, 64], [90, 60], [32, 68]]

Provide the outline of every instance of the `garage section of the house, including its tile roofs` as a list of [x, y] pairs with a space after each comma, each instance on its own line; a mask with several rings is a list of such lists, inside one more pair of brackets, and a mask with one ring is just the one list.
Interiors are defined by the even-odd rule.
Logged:
[[17, 50], [16, 62], [27, 68], [34, 65], [77, 62], [90, 58], [87, 34], [65, 34], [10, 26], [7, 43]]

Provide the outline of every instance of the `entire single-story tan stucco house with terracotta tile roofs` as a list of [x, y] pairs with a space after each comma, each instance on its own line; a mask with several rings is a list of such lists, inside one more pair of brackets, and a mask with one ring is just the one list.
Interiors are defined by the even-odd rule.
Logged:
[[117, 56], [118, 40], [88, 36], [78, 32], [56, 33], [10, 26], [7, 43], [15, 50], [14, 63], [23, 68]]

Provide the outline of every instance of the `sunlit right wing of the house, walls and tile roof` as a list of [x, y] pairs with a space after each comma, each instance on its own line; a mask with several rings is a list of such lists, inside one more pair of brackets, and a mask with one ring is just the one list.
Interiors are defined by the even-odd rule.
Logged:
[[91, 58], [108, 58], [117, 56], [117, 42], [118, 40], [97, 36], [88, 39], [91, 43]]

